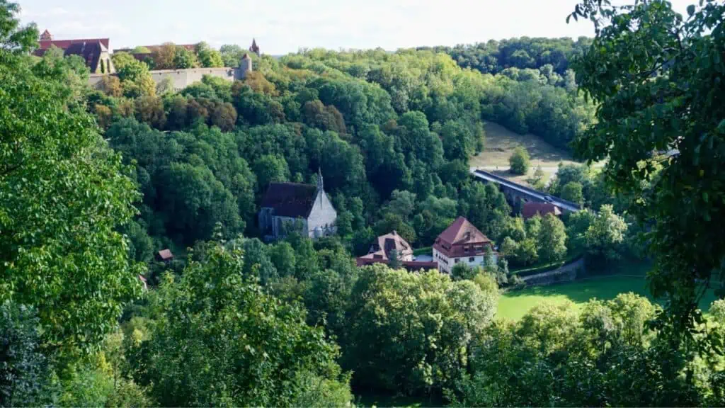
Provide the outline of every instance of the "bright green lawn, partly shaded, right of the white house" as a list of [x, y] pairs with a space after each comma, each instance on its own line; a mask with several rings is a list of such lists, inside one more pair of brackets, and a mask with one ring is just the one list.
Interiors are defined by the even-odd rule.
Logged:
[[[576, 282], [561, 283], [550, 286], [529, 287], [524, 290], [504, 293], [499, 298], [498, 317], [518, 320], [526, 314], [529, 309], [542, 301], [562, 303], [567, 299], [575, 303], [576, 308], [597, 298], [608, 300], [616, 298], [619, 293], [634, 292], [638, 295], [647, 296], [652, 301], [649, 290], [647, 290], [644, 276], [636, 275], [609, 275], [592, 277]], [[710, 303], [715, 301], [712, 290], [700, 301], [700, 309], [708, 311]]]

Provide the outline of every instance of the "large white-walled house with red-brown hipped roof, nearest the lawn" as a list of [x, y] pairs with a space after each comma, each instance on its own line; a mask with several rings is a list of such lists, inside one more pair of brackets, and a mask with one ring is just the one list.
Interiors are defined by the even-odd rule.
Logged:
[[[433, 260], [438, 262], [438, 269], [446, 273], [450, 273], [459, 262], [469, 266], [483, 266], [486, 248], [493, 250], [493, 242], [467, 219], [458, 217], [436, 238]], [[494, 262], [497, 258], [494, 251]]]

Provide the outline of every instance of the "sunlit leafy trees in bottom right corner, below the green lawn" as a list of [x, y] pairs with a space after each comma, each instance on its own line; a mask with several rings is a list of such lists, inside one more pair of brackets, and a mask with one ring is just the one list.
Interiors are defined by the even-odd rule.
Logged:
[[[725, 334], [725, 303], [700, 340]], [[471, 375], [455, 406], [722, 406], [722, 355], [687, 361], [694, 344], [671, 348], [647, 322], [656, 308], [632, 293], [573, 303], [543, 303], [519, 322], [497, 322], [476, 338]]]

